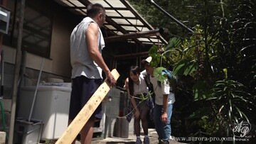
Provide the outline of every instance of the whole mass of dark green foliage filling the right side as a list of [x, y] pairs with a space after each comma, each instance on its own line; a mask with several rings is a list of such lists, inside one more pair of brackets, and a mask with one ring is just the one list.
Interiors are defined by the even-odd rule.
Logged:
[[[143, 2], [139, 4], [149, 6]], [[222, 136], [227, 136], [234, 121], [250, 121], [255, 125], [256, 2], [155, 2], [179, 20], [189, 19], [188, 26], [195, 32], [189, 36], [179, 35], [188, 38], [171, 38], [178, 34], [176, 31], [183, 33], [181, 28], [176, 28], [154, 8], [140, 9], [153, 26], [165, 27], [167, 23], [166, 28], [173, 32], [165, 48], [159, 50], [154, 46], [149, 55], [154, 57], [154, 67], [174, 66], [174, 74], [183, 78], [183, 96], [193, 92], [193, 104], [189, 112], [186, 111], [192, 123], [211, 135]]]

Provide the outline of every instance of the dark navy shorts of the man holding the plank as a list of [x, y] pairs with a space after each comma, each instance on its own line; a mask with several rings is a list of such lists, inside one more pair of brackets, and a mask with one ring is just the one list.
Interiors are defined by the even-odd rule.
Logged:
[[[102, 84], [102, 79], [88, 79], [85, 76], [75, 77], [72, 79], [72, 91], [70, 98], [70, 111], [69, 119], [73, 120], [75, 116], [78, 115], [83, 106], [90, 99], [92, 94], [95, 93], [100, 84]], [[96, 118], [102, 118], [102, 105], [97, 107], [95, 112], [92, 114]]]

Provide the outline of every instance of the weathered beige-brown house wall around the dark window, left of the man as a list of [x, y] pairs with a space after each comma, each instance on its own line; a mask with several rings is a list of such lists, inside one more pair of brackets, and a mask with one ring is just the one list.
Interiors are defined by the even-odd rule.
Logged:
[[[43, 11], [53, 20], [50, 57], [44, 59], [43, 73], [41, 80], [53, 77], [64, 79], [70, 82], [71, 65], [70, 65], [70, 33], [75, 25], [79, 22], [79, 18], [75, 18], [70, 11], [63, 9], [60, 5], [50, 0], [27, 0], [34, 9]], [[14, 0], [9, 1], [7, 7], [14, 9]], [[3, 45], [4, 50], [4, 97], [11, 98], [12, 85], [14, 81], [14, 67], [16, 62], [16, 48]], [[22, 84], [36, 84], [39, 70], [43, 57], [33, 55], [27, 52], [26, 70], [27, 77]]]

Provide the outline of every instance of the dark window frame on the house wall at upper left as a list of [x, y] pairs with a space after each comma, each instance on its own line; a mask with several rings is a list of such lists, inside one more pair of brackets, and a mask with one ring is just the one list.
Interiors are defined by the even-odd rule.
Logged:
[[[11, 10], [11, 18], [9, 23], [9, 33], [4, 35], [3, 44], [9, 45], [13, 48], [17, 48], [17, 42], [18, 42], [18, 19], [20, 13], [20, 2], [13, 1], [13, 9]], [[29, 31], [28, 27], [26, 27], [26, 12], [24, 10], [24, 20], [23, 20], [23, 31], [22, 31], [22, 43], [21, 43], [21, 50], [25, 50], [27, 52], [30, 52], [34, 55], [38, 55], [41, 57], [50, 58], [50, 48], [51, 48], [51, 39], [52, 39], [52, 32], [53, 32], [53, 18], [52, 16], [49, 16], [46, 14], [46, 12], [40, 11], [40, 9], [36, 9], [33, 4], [26, 3], [25, 9], [29, 9], [30, 11], [34, 11], [38, 16], [43, 16], [43, 18], [48, 20], [48, 26], [46, 29], [48, 29], [47, 33], [36, 33], [36, 31]], [[27, 13], [28, 14], [28, 13]], [[34, 23], [35, 24], [35, 23]], [[36, 26], [36, 25], [35, 25]], [[38, 28], [40, 26], [37, 26]], [[33, 28], [31, 28], [33, 30]], [[25, 32], [26, 31], [26, 32]], [[41, 47], [41, 50], [38, 50], [37, 48], [40, 48], [36, 43], [30, 43], [30, 45], [26, 45], [26, 41], [24, 40], [25, 33], [35, 33], [35, 36], [42, 36], [42, 34], [46, 35], [44, 37], [47, 42], [45, 47]], [[33, 45], [33, 46], [31, 46]]]

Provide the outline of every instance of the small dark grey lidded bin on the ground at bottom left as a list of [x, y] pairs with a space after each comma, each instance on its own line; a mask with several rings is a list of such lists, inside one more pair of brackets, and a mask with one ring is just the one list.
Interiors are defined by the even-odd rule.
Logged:
[[14, 130], [14, 144], [38, 144], [43, 130], [43, 121], [17, 118]]

